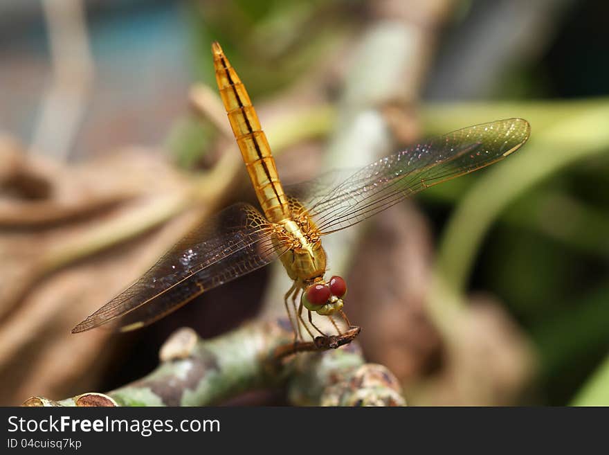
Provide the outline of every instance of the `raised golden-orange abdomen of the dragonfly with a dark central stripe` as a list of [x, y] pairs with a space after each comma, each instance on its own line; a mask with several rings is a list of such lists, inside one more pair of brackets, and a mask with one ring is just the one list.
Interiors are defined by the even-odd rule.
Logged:
[[214, 43], [212, 48], [220, 96], [260, 206], [269, 221], [285, 220], [289, 216], [289, 206], [269, 141], [235, 69], [230, 66], [219, 44]]

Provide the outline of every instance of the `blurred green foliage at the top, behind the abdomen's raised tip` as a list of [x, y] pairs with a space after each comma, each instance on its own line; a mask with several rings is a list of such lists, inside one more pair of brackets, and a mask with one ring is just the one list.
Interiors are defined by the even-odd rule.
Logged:
[[[361, 0], [194, 1], [188, 19], [197, 78], [213, 83], [210, 43], [221, 42], [250, 96], [280, 91], [353, 25]], [[347, 12], [347, 14], [345, 14]], [[349, 14], [353, 12], [353, 14]]]

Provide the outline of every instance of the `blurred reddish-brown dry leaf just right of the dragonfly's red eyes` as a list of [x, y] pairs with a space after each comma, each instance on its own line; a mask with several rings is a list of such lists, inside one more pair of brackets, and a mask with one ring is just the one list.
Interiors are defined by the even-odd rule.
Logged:
[[398, 204], [376, 217], [347, 280], [347, 311], [363, 326], [367, 359], [406, 384], [428, 370], [440, 346], [424, 309], [432, 253], [424, 217]]

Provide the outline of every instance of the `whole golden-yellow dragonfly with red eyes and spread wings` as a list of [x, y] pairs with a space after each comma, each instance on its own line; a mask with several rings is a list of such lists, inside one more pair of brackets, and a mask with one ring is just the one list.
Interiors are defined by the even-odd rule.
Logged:
[[327, 277], [322, 238], [425, 188], [496, 163], [529, 138], [529, 123], [522, 118], [465, 127], [381, 158], [347, 177], [329, 172], [330, 178], [325, 175], [308, 186], [315, 188], [314, 195], [303, 197], [296, 188], [284, 190], [246, 88], [217, 42], [212, 54], [219, 93], [262, 211], [238, 203], [208, 218], [72, 332], [107, 323], [120, 330], [143, 327], [203, 292], [278, 259], [293, 283], [284, 305], [295, 344], [305, 343], [303, 329], [311, 339], [327, 341], [329, 335], [313, 321], [313, 314], [329, 318], [334, 330], [345, 334], [356, 327], [343, 310], [347, 284], [341, 276]]

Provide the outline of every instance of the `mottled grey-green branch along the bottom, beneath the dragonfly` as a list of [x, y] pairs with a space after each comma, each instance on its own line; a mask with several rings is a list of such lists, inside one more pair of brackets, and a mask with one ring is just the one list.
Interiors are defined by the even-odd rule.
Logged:
[[312, 406], [403, 406], [387, 368], [366, 364], [354, 343], [335, 350], [278, 358], [293, 341], [287, 321], [258, 321], [214, 339], [190, 328], [175, 332], [149, 375], [108, 393], [53, 401], [33, 397], [26, 406], [205, 406], [246, 391], [287, 386], [290, 402]]

